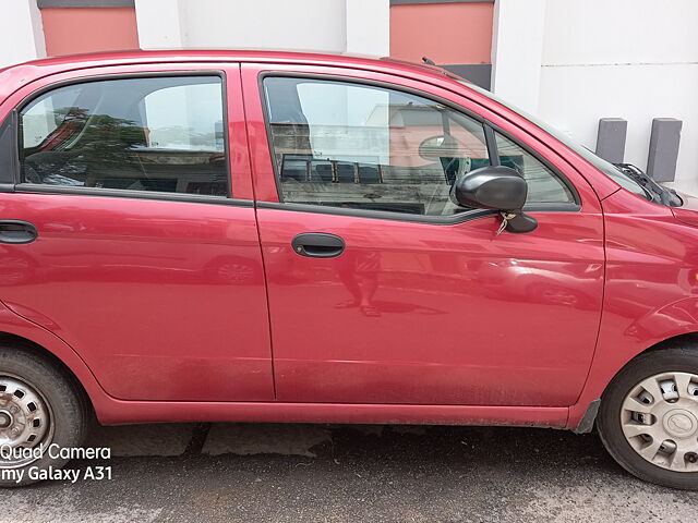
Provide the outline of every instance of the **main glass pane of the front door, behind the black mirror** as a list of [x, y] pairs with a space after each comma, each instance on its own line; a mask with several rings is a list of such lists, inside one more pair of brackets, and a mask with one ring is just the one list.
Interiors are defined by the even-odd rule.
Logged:
[[450, 187], [490, 165], [482, 124], [436, 101], [360, 84], [264, 81], [284, 202], [447, 216]]

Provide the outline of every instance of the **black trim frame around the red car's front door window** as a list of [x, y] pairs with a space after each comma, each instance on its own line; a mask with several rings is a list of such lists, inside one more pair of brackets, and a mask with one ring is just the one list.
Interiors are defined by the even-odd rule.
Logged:
[[[545, 167], [547, 167], [559, 180], [565, 184], [567, 188], [569, 188], [574, 203], [535, 203], [532, 205], [527, 205], [524, 207], [524, 210], [529, 212], [535, 211], [549, 211], [549, 212], [578, 212], [581, 210], [581, 203], [579, 198], [579, 193], [577, 192], [574, 184], [565, 177], [559, 169], [555, 166], [551, 165], [545, 158], [543, 158], [538, 151], [531, 149], [528, 145], [519, 143], [518, 139], [512, 136], [510, 133], [503, 130], [498, 125], [490, 122], [482, 115], [478, 114], [469, 110], [466, 107], [454, 104], [450, 100], [442, 98], [437, 95], [433, 95], [431, 93], [425, 93], [423, 90], [413, 89], [411, 87], [405, 87], [397, 84], [390, 84], [389, 82], [381, 82], [375, 80], [366, 80], [366, 78], [356, 78], [353, 76], [345, 76], [341, 74], [332, 74], [332, 73], [301, 73], [294, 71], [262, 71], [257, 76], [257, 87], [260, 89], [260, 97], [262, 101], [262, 112], [264, 114], [264, 126], [266, 129], [266, 137], [267, 145], [269, 150], [269, 161], [272, 162], [272, 169], [274, 172], [274, 182], [276, 185], [276, 193], [279, 198], [279, 202], [256, 202], [256, 206], [260, 208], [266, 209], [287, 209], [293, 211], [301, 212], [318, 212], [325, 215], [338, 215], [338, 216], [356, 216], [363, 218], [376, 218], [376, 219], [385, 219], [385, 220], [396, 220], [396, 221], [409, 221], [409, 222], [418, 222], [418, 223], [429, 223], [429, 224], [455, 224], [461, 223], [464, 221], [469, 221], [471, 219], [481, 218], [483, 216], [494, 216], [497, 215], [497, 211], [485, 210], [485, 209], [473, 209], [466, 210], [464, 212], [459, 212], [458, 215], [453, 216], [423, 216], [423, 215], [409, 215], [406, 212], [393, 212], [393, 211], [382, 211], [382, 210], [368, 210], [368, 209], [352, 209], [348, 207], [330, 207], [323, 205], [313, 205], [313, 204], [297, 204], [292, 202], [284, 202], [284, 194], [280, 187], [280, 175], [278, 172], [278, 166], [276, 165], [276, 157], [274, 153], [274, 142], [272, 136], [272, 126], [270, 126], [270, 118], [268, 113], [268, 100], [266, 96], [266, 92], [264, 89], [264, 80], [267, 77], [290, 77], [290, 78], [308, 78], [308, 80], [318, 80], [318, 81], [328, 81], [328, 82], [342, 82], [342, 83], [352, 83], [360, 85], [371, 85], [375, 87], [382, 87], [385, 89], [398, 90], [402, 93], [407, 93], [413, 96], [419, 96], [422, 98], [426, 98], [432, 101], [436, 101], [437, 104], [442, 104], [456, 112], [460, 112], [466, 114], [467, 117], [472, 118], [473, 120], [480, 122], [484, 129], [485, 142], [488, 147], [488, 155], [491, 155], [494, 151], [494, 156], [491, 156], [490, 162], [492, 163], [493, 159], [498, 163], [500, 157], [496, 149], [496, 137], [494, 132], [506, 136], [510, 141], [513, 141], [516, 145], [521, 147], [525, 151], [529, 153], [535, 159], [541, 161]], [[494, 165], [494, 163], [492, 163]]]

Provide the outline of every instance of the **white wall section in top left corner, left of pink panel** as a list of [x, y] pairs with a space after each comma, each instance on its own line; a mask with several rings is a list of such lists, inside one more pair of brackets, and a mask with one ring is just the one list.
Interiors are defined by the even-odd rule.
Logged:
[[0, 0], [0, 69], [46, 57], [41, 14], [36, 0]]

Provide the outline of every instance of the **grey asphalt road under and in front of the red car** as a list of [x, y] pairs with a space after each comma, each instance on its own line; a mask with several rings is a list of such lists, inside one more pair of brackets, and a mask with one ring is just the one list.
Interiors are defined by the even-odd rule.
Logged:
[[0, 522], [689, 522], [698, 492], [645, 484], [595, 435], [531, 428], [98, 428], [111, 481], [0, 490]]

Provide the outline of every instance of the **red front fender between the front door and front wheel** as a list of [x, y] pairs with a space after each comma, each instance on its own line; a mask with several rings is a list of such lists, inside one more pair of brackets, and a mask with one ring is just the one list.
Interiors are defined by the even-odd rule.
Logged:
[[[660, 342], [698, 331], [698, 228], [674, 217], [695, 214], [652, 204], [627, 191], [603, 200], [606, 283], [603, 319], [585, 391], [568, 426], [601, 398], [633, 357]], [[696, 220], [691, 217], [691, 220]]]

